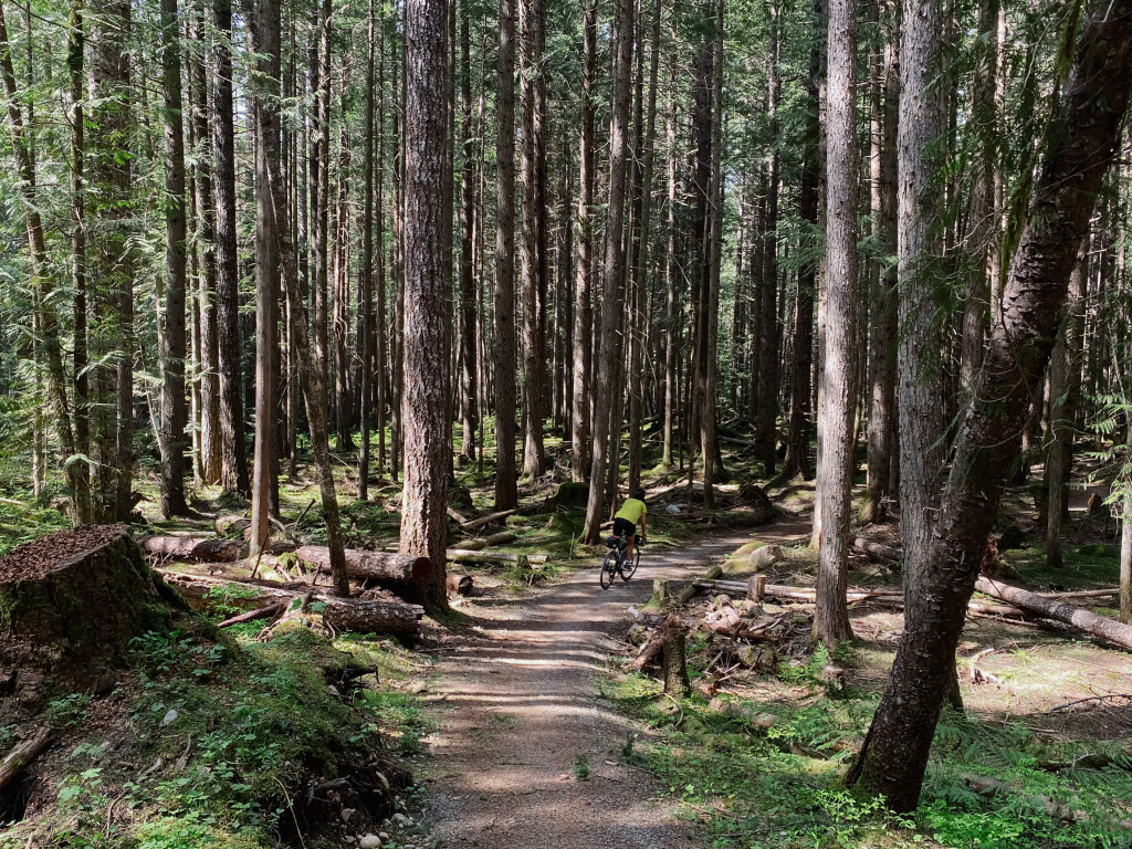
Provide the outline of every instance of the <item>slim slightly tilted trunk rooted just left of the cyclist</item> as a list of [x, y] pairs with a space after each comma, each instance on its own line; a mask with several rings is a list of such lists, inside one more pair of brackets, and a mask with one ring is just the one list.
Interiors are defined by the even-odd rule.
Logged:
[[[593, 443], [590, 462], [590, 497], [585, 507], [583, 539], [594, 543], [604, 518], [602, 486], [606, 473], [606, 454], [609, 443], [610, 409], [620, 406], [620, 397], [612, 396], [615, 384], [616, 345], [614, 336], [621, 318], [624, 294], [625, 250], [623, 245], [625, 215], [625, 178], [631, 92], [633, 77], [633, 0], [616, 0], [614, 18], [614, 78], [612, 119], [609, 129], [609, 204], [606, 217], [606, 258], [602, 266], [601, 302], [601, 360], [593, 387]], [[618, 417], [619, 419], [620, 417]], [[611, 462], [617, 458], [612, 457]]]

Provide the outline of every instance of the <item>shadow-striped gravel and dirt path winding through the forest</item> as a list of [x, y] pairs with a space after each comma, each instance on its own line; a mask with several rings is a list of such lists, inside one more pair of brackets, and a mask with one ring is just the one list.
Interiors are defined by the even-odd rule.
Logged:
[[[444, 849], [695, 846], [657, 803], [648, 773], [617, 765], [627, 721], [597, 695], [595, 670], [631, 603], [654, 577], [679, 577], [753, 535], [732, 532], [672, 554], [645, 549], [627, 584], [608, 591], [595, 568], [534, 597], [463, 608], [474, 633], [446, 648], [432, 696], [436, 790], [430, 817]], [[769, 534], [767, 531], [771, 533]], [[574, 764], [585, 756], [590, 779]]]

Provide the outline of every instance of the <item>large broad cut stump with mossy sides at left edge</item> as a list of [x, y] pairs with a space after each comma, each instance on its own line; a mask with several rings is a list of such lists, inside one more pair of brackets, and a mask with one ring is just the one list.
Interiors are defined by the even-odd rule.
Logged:
[[61, 531], [0, 558], [0, 700], [103, 689], [129, 642], [165, 631], [177, 604], [126, 525]]

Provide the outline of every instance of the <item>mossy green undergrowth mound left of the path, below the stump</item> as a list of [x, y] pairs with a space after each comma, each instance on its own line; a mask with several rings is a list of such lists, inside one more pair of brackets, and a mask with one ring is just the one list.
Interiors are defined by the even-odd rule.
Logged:
[[[23, 822], [0, 823], [0, 849], [23, 849], [33, 834], [75, 849], [338, 846], [317, 824], [295, 839], [306, 788], [372, 777], [372, 758], [419, 751], [419, 705], [388, 688], [418, 671], [395, 643], [332, 642], [305, 627], [261, 643], [189, 617], [180, 627], [136, 638], [113, 693], [46, 705], [59, 740], [48, 792]], [[385, 686], [341, 697], [328, 670], [345, 667], [375, 669]]]

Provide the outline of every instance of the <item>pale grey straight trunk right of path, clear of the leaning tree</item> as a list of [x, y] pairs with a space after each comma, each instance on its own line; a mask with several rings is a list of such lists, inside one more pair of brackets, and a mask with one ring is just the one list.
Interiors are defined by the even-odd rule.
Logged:
[[829, 648], [852, 636], [846, 606], [851, 522], [854, 418], [857, 402], [857, 14], [831, 0], [826, 153], [825, 409], [818, 420], [824, 453], [818, 470], [822, 540], [817, 561], [814, 638]]

